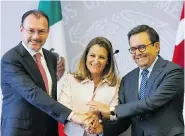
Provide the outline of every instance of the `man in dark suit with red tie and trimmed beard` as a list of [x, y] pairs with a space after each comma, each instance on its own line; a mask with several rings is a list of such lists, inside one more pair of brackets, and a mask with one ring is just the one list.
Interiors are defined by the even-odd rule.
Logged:
[[1, 136], [58, 136], [57, 121], [83, 124], [88, 115], [56, 101], [57, 58], [42, 48], [49, 33], [47, 15], [26, 12], [20, 31], [23, 40], [1, 59]]

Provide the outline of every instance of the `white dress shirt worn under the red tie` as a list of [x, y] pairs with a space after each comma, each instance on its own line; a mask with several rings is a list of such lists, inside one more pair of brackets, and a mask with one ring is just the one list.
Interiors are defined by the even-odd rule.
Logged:
[[[30, 55], [33, 57], [33, 59], [35, 60], [35, 57], [34, 55], [36, 53], [40, 53], [41, 54], [41, 63], [42, 63], [42, 66], [46, 72], [46, 76], [47, 76], [47, 79], [48, 79], [48, 86], [49, 86], [49, 95], [52, 96], [52, 79], [51, 79], [51, 75], [50, 75], [50, 72], [49, 72], [49, 69], [48, 69], [48, 66], [47, 66], [47, 63], [46, 63], [46, 60], [44, 58], [44, 54], [43, 54], [43, 51], [42, 51], [42, 48], [35, 52], [31, 49], [29, 49], [25, 44], [24, 42], [22, 42], [22, 45], [24, 46], [24, 48], [30, 53]], [[36, 61], [36, 60], [35, 60]]]

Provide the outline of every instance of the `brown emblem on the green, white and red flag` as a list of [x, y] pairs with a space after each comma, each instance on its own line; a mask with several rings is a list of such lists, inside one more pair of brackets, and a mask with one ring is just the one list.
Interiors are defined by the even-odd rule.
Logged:
[[58, 81], [64, 75], [64, 72], [65, 72], [65, 60], [64, 60], [64, 57], [59, 57], [59, 59], [57, 60], [57, 80]]

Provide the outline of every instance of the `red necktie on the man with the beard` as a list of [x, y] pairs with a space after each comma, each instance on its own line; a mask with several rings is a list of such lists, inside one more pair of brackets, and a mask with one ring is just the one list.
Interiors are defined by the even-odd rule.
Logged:
[[36, 64], [39, 68], [39, 71], [42, 75], [42, 79], [44, 81], [44, 85], [45, 85], [45, 88], [46, 88], [46, 92], [49, 91], [49, 86], [48, 86], [48, 78], [46, 76], [46, 71], [44, 70], [44, 67], [42, 66], [42, 63], [41, 63], [41, 54], [40, 53], [36, 53], [35, 54], [35, 59], [36, 59]]

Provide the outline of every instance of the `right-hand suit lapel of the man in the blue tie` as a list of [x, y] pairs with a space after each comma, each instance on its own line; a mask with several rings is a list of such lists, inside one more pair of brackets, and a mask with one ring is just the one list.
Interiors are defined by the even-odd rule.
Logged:
[[[163, 66], [166, 65], [165, 60], [159, 56], [156, 64], [154, 65], [152, 72], [150, 74], [147, 87], [146, 87], [146, 93], [145, 96], [148, 97], [151, 94], [152, 85], [157, 80], [157, 77], [159, 74], [163, 71]], [[154, 90], [155, 91], [155, 90]]]

